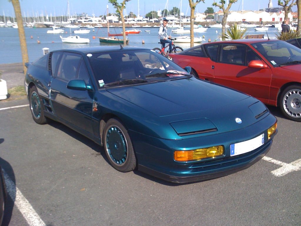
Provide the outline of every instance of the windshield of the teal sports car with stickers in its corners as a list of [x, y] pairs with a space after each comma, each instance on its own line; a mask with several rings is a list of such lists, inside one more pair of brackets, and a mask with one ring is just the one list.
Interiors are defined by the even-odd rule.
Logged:
[[161, 82], [190, 76], [153, 50], [120, 50], [87, 54], [99, 87]]

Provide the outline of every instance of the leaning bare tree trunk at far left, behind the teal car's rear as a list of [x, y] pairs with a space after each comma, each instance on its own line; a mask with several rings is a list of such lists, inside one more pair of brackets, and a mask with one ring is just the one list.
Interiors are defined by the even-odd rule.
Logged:
[[19, 0], [12, 0], [11, 2], [13, 4], [16, 19], [17, 19], [23, 70], [24, 70], [24, 74], [26, 74], [25, 63], [28, 62], [29, 60], [28, 60], [27, 44], [26, 44], [26, 38], [25, 38], [25, 31], [24, 31], [24, 27], [23, 27], [23, 19], [22, 19], [22, 14], [21, 14], [20, 2], [19, 2]]

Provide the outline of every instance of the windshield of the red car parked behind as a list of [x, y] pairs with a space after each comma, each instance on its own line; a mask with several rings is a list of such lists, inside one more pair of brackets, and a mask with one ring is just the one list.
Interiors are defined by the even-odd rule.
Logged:
[[284, 41], [254, 43], [257, 49], [275, 67], [301, 63], [301, 49]]

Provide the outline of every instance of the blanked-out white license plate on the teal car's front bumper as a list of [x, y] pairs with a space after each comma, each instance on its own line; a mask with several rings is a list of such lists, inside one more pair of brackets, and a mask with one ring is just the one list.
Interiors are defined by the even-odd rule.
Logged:
[[230, 145], [230, 156], [241, 155], [259, 148], [264, 144], [264, 133], [251, 140]]

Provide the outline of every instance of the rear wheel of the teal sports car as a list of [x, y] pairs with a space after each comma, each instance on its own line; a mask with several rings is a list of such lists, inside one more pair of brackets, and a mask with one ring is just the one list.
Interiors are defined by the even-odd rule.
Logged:
[[44, 105], [39, 98], [39, 93], [36, 86], [33, 86], [29, 92], [29, 108], [33, 116], [33, 120], [38, 124], [47, 123], [44, 115]]

